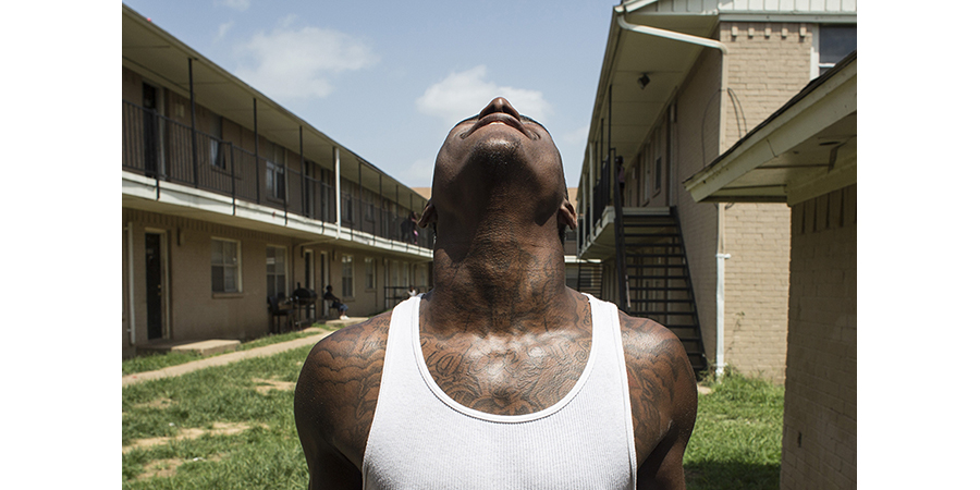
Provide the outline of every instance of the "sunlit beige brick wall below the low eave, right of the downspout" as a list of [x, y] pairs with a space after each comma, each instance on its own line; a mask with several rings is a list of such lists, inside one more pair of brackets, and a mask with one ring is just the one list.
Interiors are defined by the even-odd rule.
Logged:
[[789, 207], [725, 210], [725, 363], [783, 383], [789, 294]]

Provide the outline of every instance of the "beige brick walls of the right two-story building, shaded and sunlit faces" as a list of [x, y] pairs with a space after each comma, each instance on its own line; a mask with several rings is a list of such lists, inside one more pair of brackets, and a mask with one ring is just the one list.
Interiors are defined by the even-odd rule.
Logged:
[[[732, 37], [732, 27], [738, 35]], [[676, 98], [672, 191], [765, 120], [809, 82], [810, 36], [799, 24], [722, 23], [716, 37], [728, 48], [730, 94], [724, 94], [725, 139], [719, 142], [721, 54], [706, 49]], [[749, 38], [751, 27], [755, 35]], [[782, 36], [786, 27], [787, 36]], [[676, 180], [674, 180], [676, 179]], [[682, 188], [683, 189], [683, 188]], [[698, 317], [709, 360], [715, 360], [718, 208], [674, 192], [684, 231]], [[722, 205], [724, 206], [724, 205]], [[789, 209], [780, 204], [737, 204], [724, 220], [725, 362], [750, 376], [784, 380], [789, 261]]]

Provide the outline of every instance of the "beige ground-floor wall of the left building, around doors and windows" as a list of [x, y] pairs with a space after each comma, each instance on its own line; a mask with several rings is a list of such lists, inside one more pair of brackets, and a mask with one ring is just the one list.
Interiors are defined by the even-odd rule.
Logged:
[[[126, 226], [132, 224], [133, 233], [133, 287], [130, 287], [128, 237]], [[328, 260], [327, 283], [333, 284], [334, 293], [341, 290], [341, 257], [354, 257], [355, 294], [346, 298], [351, 316], [369, 316], [384, 309], [384, 257], [375, 250], [352, 249], [333, 244], [302, 245], [296, 238], [209, 223], [188, 218], [168, 216], [123, 208], [123, 356], [135, 354], [136, 347], [130, 342], [130, 318], [135, 321], [136, 345], [147, 342], [146, 329], [146, 261], [145, 241], [147, 232], [162, 232], [166, 236], [166, 269], [169, 287], [166, 291], [166, 317], [169, 317], [169, 332], [164, 338], [172, 340], [199, 339], [253, 339], [269, 331], [270, 320], [267, 309], [266, 247], [285, 247], [287, 260], [286, 291], [292, 292], [296, 283], [305, 284], [304, 252], [313, 252], [314, 290], [321, 294], [326, 286], [321, 277], [321, 262]], [[233, 240], [241, 245], [241, 293], [211, 293], [211, 240]], [[322, 255], [321, 252], [326, 252]], [[375, 260], [373, 289], [365, 284], [365, 258]], [[421, 264], [401, 260], [400, 264]], [[132, 307], [130, 294], [132, 291]], [[132, 310], [131, 310], [132, 308]], [[317, 305], [317, 315], [323, 315], [322, 304]], [[164, 332], [168, 328], [164, 327]]]

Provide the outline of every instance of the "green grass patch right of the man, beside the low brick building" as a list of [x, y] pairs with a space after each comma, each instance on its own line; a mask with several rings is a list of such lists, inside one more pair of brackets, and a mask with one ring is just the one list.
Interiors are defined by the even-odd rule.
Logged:
[[684, 454], [687, 488], [779, 489], [783, 388], [737, 373], [708, 384]]

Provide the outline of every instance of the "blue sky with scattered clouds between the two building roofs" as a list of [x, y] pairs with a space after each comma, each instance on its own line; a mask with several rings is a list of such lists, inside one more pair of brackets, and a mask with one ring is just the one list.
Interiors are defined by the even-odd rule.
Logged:
[[494, 96], [551, 132], [578, 184], [614, 0], [131, 0], [205, 57], [411, 186]]

